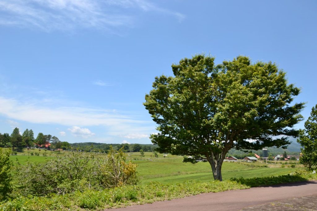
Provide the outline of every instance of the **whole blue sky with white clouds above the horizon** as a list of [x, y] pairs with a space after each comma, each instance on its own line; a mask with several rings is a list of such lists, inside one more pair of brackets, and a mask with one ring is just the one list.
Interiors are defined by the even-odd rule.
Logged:
[[276, 62], [301, 87], [307, 119], [316, 11], [316, 1], [289, 0], [0, 0], [0, 132], [149, 144], [145, 94], [197, 53]]

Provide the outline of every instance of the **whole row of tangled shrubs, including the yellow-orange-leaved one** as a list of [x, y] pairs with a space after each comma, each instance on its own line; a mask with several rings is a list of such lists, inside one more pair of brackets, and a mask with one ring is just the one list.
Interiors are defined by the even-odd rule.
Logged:
[[[38, 153], [36, 152], [36, 155]], [[43, 153], [46, 156], [46, 153]], [[136, 165], [126, 163], [122, 150], [110, 150], [107, 157], [70, 152], [45, 162], [26, 162], [16, 167], [16, 192], [20, 195], [58, 195], [136, 184]]]

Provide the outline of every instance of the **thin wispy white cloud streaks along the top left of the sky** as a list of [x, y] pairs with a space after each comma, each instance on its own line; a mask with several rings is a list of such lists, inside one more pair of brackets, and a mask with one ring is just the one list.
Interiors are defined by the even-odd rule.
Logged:
[[0, 24], [44, 31], [77, 27], [113, 30], [132, 25], [134, 15], [127, 9], [155, 11], [178, 20], [184, 18], [146, 0], [0, 0]]

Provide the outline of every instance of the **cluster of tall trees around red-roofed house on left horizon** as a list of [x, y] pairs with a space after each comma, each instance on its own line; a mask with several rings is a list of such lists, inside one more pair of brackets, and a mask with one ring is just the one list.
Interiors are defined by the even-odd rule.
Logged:
[[21, 150], [22, 148], [42, 147], [47, 149], [70, 149], [68, 142], [62, 142], [58, 137], [50, 134], [44, 135], [39, 133], [34, 138], [34, 132], [26, 129], [23, 134], [20, 134], [19, 128], [15, 128], [11, 135], [9, 133], [0, 133], [0, 147], [12, 147], [14, 150]]

